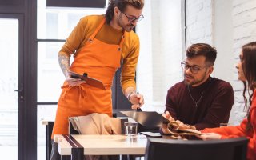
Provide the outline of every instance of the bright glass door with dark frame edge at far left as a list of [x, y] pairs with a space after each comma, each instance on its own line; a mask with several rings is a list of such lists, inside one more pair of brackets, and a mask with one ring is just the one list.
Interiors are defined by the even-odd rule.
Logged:
[[10, 160], [18, 159], [18, 108], [23, 98], [20, 20], [17, 14], [0, 14], [0, 155]]

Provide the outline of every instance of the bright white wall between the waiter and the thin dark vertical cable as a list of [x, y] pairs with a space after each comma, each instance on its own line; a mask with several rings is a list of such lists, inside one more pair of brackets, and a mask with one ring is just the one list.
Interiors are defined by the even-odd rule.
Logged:
[[180, 0], [148, 0], [138, 23], [141, 52], [137, 90], [145, 97], [142, 110], [165, 109], [167, 90], [182, 80], [182, 9]]

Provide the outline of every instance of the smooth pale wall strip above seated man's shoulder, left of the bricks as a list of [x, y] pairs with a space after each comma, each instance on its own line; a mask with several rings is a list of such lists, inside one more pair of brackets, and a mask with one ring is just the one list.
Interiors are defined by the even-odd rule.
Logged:
[[232, 0], [215, 0], [213, 10], [213, 45], [218, 50], [214, 76], [234, 86]]

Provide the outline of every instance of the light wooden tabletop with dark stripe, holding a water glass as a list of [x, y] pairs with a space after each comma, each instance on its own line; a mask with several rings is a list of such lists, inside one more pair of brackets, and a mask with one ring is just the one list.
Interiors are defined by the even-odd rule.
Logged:
[[144, 155], [147, 138], [142, 135], [129, 139], [125, 135], [54, 135], [61, 156], [72, 155], [81, 160], [84, 155]]

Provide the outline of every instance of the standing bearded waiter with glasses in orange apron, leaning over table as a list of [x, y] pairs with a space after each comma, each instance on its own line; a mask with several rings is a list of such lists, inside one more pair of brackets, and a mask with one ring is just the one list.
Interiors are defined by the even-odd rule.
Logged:
[[[142, 20], [143, 0], [110, 0], [104, 15], [81, 18], [58, 53], [58, 60], [66, 81], [58, 100], [53, 134], [68, 134], [68, 118], [91, 113], [112, 117], [111, 86], [116, 70], [122, 64], [123, 94], [136, 109], [143, 105], [142, 94], [136, 92], [134, 82], [138, 62], [139, 40], [133, 29]], [[74, 62], [70, 66], [70, 55]], [[70, 71], [88, 74], [102, 81], [106, 90], [88, 85], [79, 78], [71, 78]], [[56, 147], [52, 158], [56, 158]]]

